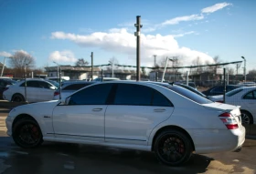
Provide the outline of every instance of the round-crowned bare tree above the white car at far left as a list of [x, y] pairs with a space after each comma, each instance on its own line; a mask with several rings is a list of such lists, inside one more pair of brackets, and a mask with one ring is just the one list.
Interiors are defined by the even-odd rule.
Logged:
[[13, 56], [9, 57], [8, 63], [13, 67], [16, 77], [24, 77], [24, 69], [27, 70], [35, 67], [35, 58], [25, 51], [16, 51]]

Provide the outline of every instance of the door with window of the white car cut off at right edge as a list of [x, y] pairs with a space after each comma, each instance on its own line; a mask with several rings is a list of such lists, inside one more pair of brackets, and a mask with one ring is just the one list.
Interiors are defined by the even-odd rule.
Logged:
[[256, 90], [252, 90], [245, 94], [240, 101], [242, 109], [246, 109], [251, 112], [252, 116], [256, 116]]

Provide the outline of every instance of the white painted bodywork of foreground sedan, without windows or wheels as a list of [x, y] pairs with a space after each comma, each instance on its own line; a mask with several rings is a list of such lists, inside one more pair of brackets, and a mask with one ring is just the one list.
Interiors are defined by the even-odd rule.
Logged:
[[[58, 106], [60, 101], [30, 104], [16, 107], [9, 113], [7, 134], [12, 136], [14, 119], [26, 113], [37, 120], [44, 140], [48, 141], [151, 150], [156, 132], [174, 126], [187, 131], [196, 153], [231, 151], [243, 144], [245, 128], [240, 124], [239, 107], [219, 103], [200, 105], [165, 87], [150, 83], [140, 85], [155, 88], [169, 98], [174, 107]], [[219, 119], [224, 112], [231, 112], [239, 128], [226, 128]]]

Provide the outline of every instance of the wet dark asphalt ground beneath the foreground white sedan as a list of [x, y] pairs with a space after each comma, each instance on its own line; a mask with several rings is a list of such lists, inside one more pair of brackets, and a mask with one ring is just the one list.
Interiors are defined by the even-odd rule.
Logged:
[[240, 152], [193, 155], [186, 165], [160, 164], [154, 153], [44, 143], [40, 148], [18, 148], [5, 134], [8, 109], [0, 109], [0, 174], [16, 173], [255, 173], [256, 140], [247, 139]]

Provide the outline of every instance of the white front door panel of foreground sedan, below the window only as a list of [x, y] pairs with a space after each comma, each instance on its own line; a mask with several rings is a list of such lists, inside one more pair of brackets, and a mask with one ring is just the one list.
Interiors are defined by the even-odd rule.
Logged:
[[53, 127], [57, 138], [104, 141], [104, 113], [107, 106], [57, 106]]

